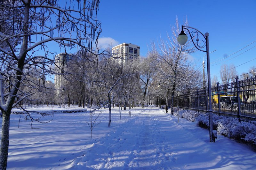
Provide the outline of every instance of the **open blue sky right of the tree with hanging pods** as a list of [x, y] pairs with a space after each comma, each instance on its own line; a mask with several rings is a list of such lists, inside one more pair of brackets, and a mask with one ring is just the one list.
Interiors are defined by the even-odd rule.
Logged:
[[[102, 22], [100, 45], [111, 41], [113, 45], [133, 43], [140, 46], [140, 55], [146, 56], [150, 42], [159, 41], [160, 37], [165, 39], [167, 32], [172, 34], [171, 26], [176, 17], [180, 25], [187, 17], [189, 26], [210, 34], [210, 52], [216, 50], [210, 54], [210, 63], [213, 63], [256, 41], [255, 7], [255, 0], [101, 0], [98, 11], [98, 19]], [[256, 66], [254, 46], [256, 42], [214, 63], [217, 65], [211, 64], [211, 77], [216, 75], [220, 80], [223, 63], [237, 66], [238, 75], [249, 72], [251, 66]], [[198, 51], [191, 54], [190, 59], [200, 65], [204, 55]]]

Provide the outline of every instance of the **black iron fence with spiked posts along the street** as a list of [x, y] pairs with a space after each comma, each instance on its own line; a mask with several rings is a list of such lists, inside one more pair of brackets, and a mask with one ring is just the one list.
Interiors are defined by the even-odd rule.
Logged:
[[[188, 92], [178, 95], [174, 100], [176, 107], [192, 109], [198, 112], [207, 112], [208, 90]], [[236, 117], [243, 121], [256, 121], [256, 77], [244, 78], [229, 84], [212, 87], [213, 113]]]

